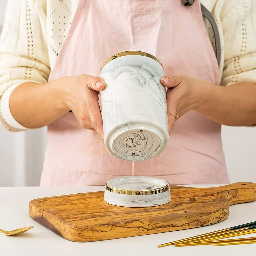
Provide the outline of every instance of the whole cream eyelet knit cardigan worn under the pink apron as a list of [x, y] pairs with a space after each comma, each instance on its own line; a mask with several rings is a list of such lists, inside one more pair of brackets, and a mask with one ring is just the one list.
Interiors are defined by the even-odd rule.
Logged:
[[[170, 0], [170, 4], [171, 1], [181, 0]], [[0, 122], [7, 130], [27, 130], [13, 118], [9, 97], [23, 82], [47, 82], [77, 3], [78, 0], [9, 0], [0, 39]], [[256, 82], [256, 1], [201, 3], [212, 13], [220, 33], [221, 84]]]

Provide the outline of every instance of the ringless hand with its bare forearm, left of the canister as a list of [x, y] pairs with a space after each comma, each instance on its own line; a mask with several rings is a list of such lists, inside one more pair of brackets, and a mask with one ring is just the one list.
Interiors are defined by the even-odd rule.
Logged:
[[46, 126], [72, 110], [81, 127], [94, 129], [103, 141], [98, 94], [104, 88], [100, 77], [89, 75], [62, 77], [45, 84], [26, 82], [12, 91], [10, 110], [27, 128]]

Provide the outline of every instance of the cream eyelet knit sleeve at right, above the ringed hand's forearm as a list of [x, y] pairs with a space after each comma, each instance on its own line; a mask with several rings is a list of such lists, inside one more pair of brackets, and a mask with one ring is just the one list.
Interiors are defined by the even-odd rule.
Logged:
[[256, 83], [256, 3], [218, 0], [216, 13], [223, 29], [222, 85]]

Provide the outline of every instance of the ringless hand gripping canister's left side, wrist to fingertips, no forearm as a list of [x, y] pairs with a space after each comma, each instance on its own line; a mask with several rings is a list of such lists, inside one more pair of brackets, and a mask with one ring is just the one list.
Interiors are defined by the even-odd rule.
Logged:
[[95, 130], [103, 141], [103, 125], [98, 95], [99, 91], [105, 88], [105, 82], [100, 77], [85, 74], [62, 77], [56, 82], [64, 88], [63, 104], [68, 110], [72, 110], [80, 126]]

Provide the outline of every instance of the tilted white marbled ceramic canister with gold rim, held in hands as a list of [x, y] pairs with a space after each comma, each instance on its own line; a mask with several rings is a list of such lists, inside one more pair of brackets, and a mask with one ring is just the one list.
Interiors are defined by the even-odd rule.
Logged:
[[100, 77], [104, 143], [123, 160], [140, 161], [167, 145], [166, 90], [161, 62], [139, 51], [118, 53], [102, 65]]

